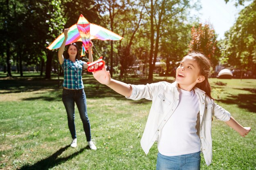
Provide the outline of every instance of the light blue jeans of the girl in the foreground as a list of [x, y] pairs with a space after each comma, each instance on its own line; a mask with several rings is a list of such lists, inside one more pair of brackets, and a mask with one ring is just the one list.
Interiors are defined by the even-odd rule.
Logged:
[[157, 170], [200, 170], [200, 151], [178, 156], [157, 154]]

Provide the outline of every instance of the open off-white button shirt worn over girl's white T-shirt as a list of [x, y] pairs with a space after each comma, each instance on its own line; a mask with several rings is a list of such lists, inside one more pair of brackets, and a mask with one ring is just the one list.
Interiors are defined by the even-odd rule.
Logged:
[[[132, 86], [132, 95], [126, 98], [152, 100], [152, 106], [140, 142], [142, 149], [148, 154], [154, 142], [157, 141], [166, 120], [171, 117], [179, 103], [177, 83], [158, 82], [146, 85], [130, 84], [130, 86]], [[212, 161], [212, 116], [222, 121], [228, 121], [231, 115], [227, 110], [214, 103], [213, 99], [209, 98], [204, 91], [197, 87], [193, 89], [199, 98], [200, 126], [198, 127], [198, 135], [201, 141], [201, 151], [204, 154], [207, 166], [209, 166]]]

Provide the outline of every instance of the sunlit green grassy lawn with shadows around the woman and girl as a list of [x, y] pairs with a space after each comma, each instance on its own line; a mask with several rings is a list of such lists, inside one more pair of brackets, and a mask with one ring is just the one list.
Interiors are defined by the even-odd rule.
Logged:
[[[62, 89], [56, 76], [45, 80], [38, 73], [0, 73], [1, 170], [154, 170], [157, 146], [148, 155], [140, 147], [151, 102], [132, 101], [84, 75], [92, 140], [88, 149], [76, 109], [78, 147], [70, 148]], [[155, 77], [157, 81], [173, 77]], [[126, 78], [145, 84], [145, 80]], [[213, 97], [252, 132], [243, 138], [224, 122], [213, 119], [213, 162], [202, 170], [256, 170], [256, 79], [210, 79]], [[220, 84], [220, 85], [217, 85]], [[224, 84], [224, 85], [221, 85]], [[202, 155], [201, 155], [202, 156]]]

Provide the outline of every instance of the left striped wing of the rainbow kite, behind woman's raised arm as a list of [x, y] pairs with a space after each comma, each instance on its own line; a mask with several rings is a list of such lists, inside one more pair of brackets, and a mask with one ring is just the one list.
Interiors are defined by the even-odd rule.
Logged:
[[[54, 40], [54, 42], [52, 42], [47, 49], [52, 50], [52, 49], [58, 49], [61, 47], [61, 44], [64, 41], [64, 33], [61, 33], [61, 35], [58, 36], [58, 38], [56, 38]], [[79, 31], [77, 29], [76, 24], [72, 25], [70, 27], [70, 29], [67, 32], [67, 41], [65, 45], [71, 44], [73, 42], [77, 42], [77, 41], [82, 41], [81, 36], [79, 34]]]

